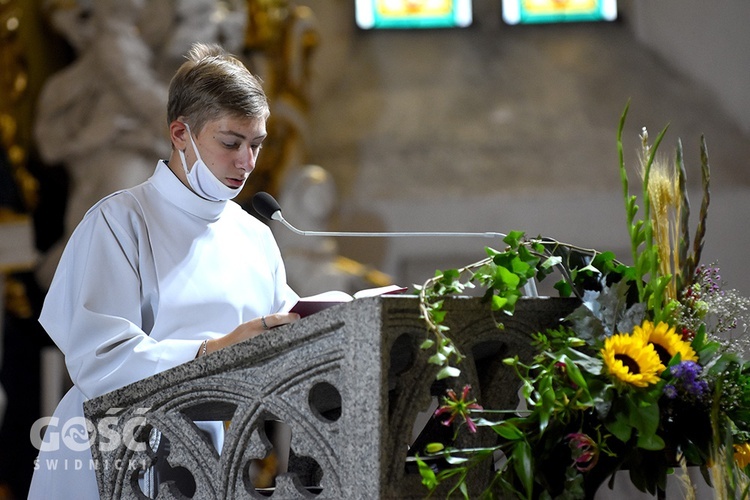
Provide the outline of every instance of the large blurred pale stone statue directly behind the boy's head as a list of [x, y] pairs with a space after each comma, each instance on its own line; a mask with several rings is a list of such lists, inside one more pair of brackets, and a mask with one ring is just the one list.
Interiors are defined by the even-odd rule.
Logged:
[[[242, 2], [240, 2], [242, 3]], [[169, 78], [190, 43], [241, 46], [245, 14], [218, 0], [77, 0], [47, 4], [78, 57], [45, 83], [35, 137], [42, 159], [71, 177], [65, 234], [41, 259], [47, 287], [70, 232], [108, 194], [146, 180], [169, 155]]]

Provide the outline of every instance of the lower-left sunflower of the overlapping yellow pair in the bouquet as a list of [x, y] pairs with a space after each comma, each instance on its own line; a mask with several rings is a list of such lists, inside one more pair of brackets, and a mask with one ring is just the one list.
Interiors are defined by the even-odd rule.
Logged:
[[664, 371], [654, 346], [639, 335], [612, 335], [604, 341], [601, 354], [610, 375], [636, 387], [656, 383]]

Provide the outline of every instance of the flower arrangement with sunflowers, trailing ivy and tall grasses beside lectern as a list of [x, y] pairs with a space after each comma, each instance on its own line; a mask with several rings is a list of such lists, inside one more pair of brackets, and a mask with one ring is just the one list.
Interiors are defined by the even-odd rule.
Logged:
[[[420, 287], [422, 315], [434, 336], [423, 348], [438, 378], [460, 373], [462, 354], [443, 325], [443, 300], [481, 286], [496, 318], [513, 314], [527, 283], [553, 271], [562, 296], [581, 306], [557, 329], [537, 332], [531, 362], [504, 360], [517, 374], [521, 404], [492, 410], [450, 390], [436, 418], [456, 432], [491, 429], [497, 444], [458, 449], [432, 444], [418, 457], [430, 491], [451, 482], [468, 498], [466, 472], [492, 466], [485, 498], [593, 498], [619, 470], [641, 491], [664, 495], [667, 475], [697, 466], [717, 498], [750, 491], [750, 363], [743, 360], [750, 300], [725, 290], [715, 266], [700, 264], [710, 201], [710, 169], [701, 138], [702, 203], [690, 243], [690, 205], [682, 146], [673, 161], [657, 155], [644, 129], [642, 208], [629, 192], [622, 132], [617, 144], [632, 265], [611, 252], [510, 233], [503, 251], [462, 269], [436, 273]], [[638, 217], [640, 211], [640, 218]], [[502, 322], [497, 321], [502, 327]], [[740, 331], [740, 333], [744, 333]], [[490, 432], [490, 431], [487, 431]], [[442, 470], [428, 457], [450, 464]], [[491, 462], [491, 463], [488, 463]], [[694, 497], [685, 476], [686, 497]]]

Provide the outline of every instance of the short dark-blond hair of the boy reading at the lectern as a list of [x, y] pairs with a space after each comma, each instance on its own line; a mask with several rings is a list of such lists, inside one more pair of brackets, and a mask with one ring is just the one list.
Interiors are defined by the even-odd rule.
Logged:
[[225, 115], [268, 117], [260, 79], [235, 56], [219, 45], [196, 43], [186, 58], [169, 84], [168, 123], [184, 117], [197, 134]]

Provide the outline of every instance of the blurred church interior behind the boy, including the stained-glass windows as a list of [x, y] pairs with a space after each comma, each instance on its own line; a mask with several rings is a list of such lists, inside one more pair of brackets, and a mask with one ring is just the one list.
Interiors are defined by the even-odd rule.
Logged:
[[[629, 261], [616, 131], [669, 126], [704, 263], [750, 295], [750, 41], [744, 0], [0, 0], [0, 498], [25, 498], [29, 429], [67, 381], [36, 323], [61, 248], [101, 197], [169, 155], [166, 88], [192, 42], [264, 80], [270, 136], [238, 201], [300, 229], [523, 230]], [[695, 217], [694, 217], [695, 218]], [[272, 225], [302, 295], [411, 286], [500, 241], [300, 237]]]

